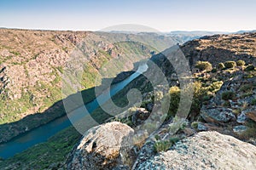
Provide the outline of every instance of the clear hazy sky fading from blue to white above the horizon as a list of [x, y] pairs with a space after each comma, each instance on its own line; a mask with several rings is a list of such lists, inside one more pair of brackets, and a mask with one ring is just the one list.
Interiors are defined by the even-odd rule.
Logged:
[[9, 28], [239, 31], [256, 29], [255, 17], [256, 0], [0, 0], [0, 27]]

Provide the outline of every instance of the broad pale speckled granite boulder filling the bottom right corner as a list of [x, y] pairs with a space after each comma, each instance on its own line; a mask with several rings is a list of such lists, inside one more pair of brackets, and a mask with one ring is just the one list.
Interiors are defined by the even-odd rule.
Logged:
[[256, 169], [256, 147], [217, 132], [201, 132], [183, 139], [134, 169]]

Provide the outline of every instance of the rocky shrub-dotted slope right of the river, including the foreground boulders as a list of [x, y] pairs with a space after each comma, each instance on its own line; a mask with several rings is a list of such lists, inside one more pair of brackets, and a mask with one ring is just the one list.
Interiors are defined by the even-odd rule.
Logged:
[[[102, 128], [118, 124], [108, 120], [107, 124], [92, 129], [95, 135], [91, 136], [91, 130], [90, 135], [84, 134], [84, 138], [67, 159], [67, 167], [86, 169], [90, 165], [91, 169], [255, 169], [255, 41], [255, 33], [216, 35], [186, 42], [180, 47], [189, 61], [193, 79], [184, 88], [186, 93], [188, 89], [192, 89], [193, 99], [189, 115], [183, 117], [177, 115], [181, 99], [180, 79], [177, 75], [174, 77], [174, 66], [166, 59], [168, 49], [154, 55], [151, 60], [164, 72], [171, 87], [166, 90], [165, 87], [154, 86], [157, 89], [153, 92], [152, 88], [148, 88], [147, 79], [138, 77], [126, 87], [125, 92], [131, 88], [143, 89], [142, 105], [134, 106], [110, 120], [129, 125], [132, 128], [127, 132], [137, 135], [131, 137], [126, 133], [118, 138], [116, 146], [103, 143], [102, 139], [108, 141], [120, 136], [113, 133], [107, 138], [100, 134], [104, 132]], [[152, 70], [154, 69], [148, 71]], [[169, 110], [166, 114], [159, 115], [159, 110], [154, 110], [153, 106], [160, 108], [159, 101], [166, 99], [166, 96], [171, 96]], [[119, 100], [122, 98], [124, 94], [119, 95]], [[104, 111], [98, 110], [97, 113]], [[156, 116], [156, 122], [150, 122], [152, 115]], [[162, 117], [165, 121], [157, 127]], [[144, 128], [141, 125], [145, 125]], [[119, 124], [119, 127], [125, 125]], [[121, 142], [126, 140], [130, 142], [128, 145]], [[99, 152], [98, 144], [106, 150]], [[94, 151], [93, 148], [97, 150]], [[113, 148], [116, 150], [113, 151]], [[122, 148], [127, 149], [125, 153]], [[112, 156], [111, 159], [104, 155], [107, 150], [112, 150], [108, 155]], [[102, 159], [99, 160], [98, 157]], [[93, 163], [95, 161], [96, 164]]]

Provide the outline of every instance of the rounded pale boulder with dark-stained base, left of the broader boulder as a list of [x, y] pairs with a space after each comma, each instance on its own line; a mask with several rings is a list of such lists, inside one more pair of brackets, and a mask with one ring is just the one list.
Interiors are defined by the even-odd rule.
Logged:
[[90, 128], [67, 159], [67, 169], [129, 169], [135, 159], [133, 133], [121, 122]]

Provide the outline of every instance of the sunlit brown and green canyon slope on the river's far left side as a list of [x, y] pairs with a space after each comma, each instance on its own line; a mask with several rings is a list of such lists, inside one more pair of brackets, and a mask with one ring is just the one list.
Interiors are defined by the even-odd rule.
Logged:
[[[0, 29], [0, 124], [42, 113], [61, 100], [61, 75], [75, 50], [84, 54], [85, 69], [79, 89], [84, 90], [99, 85], [95, 84], [96, 74], [109, 60], [124, 57], [127, 62], [119, 63], [125, 65], [119, 71], [131, 71], [133, 63], [176, 41], [157, 34]], [[87, 97], [84, 102], [91, 99]], [[59, 102], [55, 107], [61, 105]], [[2, 125], [0, 142], [65, 114], [61, 109], [51, 111], [47, 110], [49, 115], [43, 118]]]

